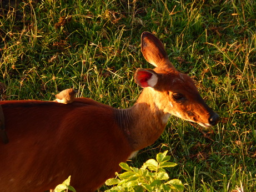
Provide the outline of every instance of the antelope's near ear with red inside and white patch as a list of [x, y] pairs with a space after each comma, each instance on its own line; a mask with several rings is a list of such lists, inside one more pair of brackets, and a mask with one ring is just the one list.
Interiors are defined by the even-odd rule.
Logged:
[[158, 74], [152, 69], [137, 69], [134, 79], [140, 87], [153, 88], [157, 84]]

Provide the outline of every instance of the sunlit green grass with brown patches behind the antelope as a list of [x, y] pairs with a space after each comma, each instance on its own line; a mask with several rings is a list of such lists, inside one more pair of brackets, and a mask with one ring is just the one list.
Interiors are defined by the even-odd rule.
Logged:
[[141, 90], [135, 69], [153, 68], [140, 34], [153, 32], [221, 121], [203, 129], [171, 117], [129, 164], [169, 150], [178, 164], [170, 178], [185, 191], [256, 191], [255, 7], [253, 0], [2, 0], [1, 99], [53, 100], [73, 87], [79, 97], [130, 107]]

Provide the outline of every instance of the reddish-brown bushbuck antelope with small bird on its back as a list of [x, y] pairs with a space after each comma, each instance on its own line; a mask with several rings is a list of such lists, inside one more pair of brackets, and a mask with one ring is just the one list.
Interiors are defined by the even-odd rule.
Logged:
[[44, 191], [71, 175], [79, 191], [95, 191], [120, 171], [119, 163], [151, 145], [170, 115], [203, 127], [219, 115], [204, 102], [191, 78], [178, 72], [163, 43], [142, 33], [144, 58], [154, 69], [137, 69], [144, 88], [135, 104], [116, 109], [89, 98], [72, 103], [1, 101], [9, 143], [0, 143], [1, 191]]

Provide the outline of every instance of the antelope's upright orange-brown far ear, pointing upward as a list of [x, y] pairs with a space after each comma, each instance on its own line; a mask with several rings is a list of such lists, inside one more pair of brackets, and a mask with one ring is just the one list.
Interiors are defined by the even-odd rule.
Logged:
[[141, 37], [141, 48], [144, 58], [155, 67], [166, 65], [173, 67], [168, 58], [163, 43], [149, 32], [143, 32]]

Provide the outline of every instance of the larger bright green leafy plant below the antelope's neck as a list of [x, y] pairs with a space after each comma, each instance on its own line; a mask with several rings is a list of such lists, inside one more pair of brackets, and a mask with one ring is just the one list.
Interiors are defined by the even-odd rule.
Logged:
[[120, 163], [126, 172], [117, 174], [119, 178], [108, 179], [106, 185], [117, 185], [107, 191], [183, 191], [184, 186], [179, 179], [169, 180], [164, 168], [172, 168], [177, 164], [168, 162], [170, 156], [157, 154], [157, 160], [147, 160], [140, 169], [127, 163]]

